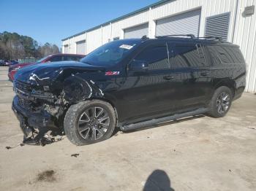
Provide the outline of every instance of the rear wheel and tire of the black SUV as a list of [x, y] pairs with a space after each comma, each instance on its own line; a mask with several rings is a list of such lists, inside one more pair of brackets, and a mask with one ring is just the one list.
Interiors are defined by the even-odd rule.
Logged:
[[[222, 95], [225, 95], [225, 96], [222, 96]], [[226, 101], [222, 100], [222, 97], [225, 98], [226, 95], [228, 96], [226, 98]], [[209, 109], [208, 114], [210, 114], [211, 117], [216, 117], [216, 118], [224, 117], [225, 114], [227, 114], [227, 112], [230, 109], [232, 100], [233, 100], [233, 94], [229, 87], [226, 87], [226, 86], [218, 87], [211, 98], [211, 102], [208, 107]]]

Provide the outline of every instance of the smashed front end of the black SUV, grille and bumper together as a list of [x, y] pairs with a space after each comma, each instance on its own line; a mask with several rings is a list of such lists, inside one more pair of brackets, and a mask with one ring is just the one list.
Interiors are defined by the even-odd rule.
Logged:
[[29, 137], [40, 128], [59, 128], [61, 115], [67, 107], [63, 97], [43, 90], [26, 88], [28, 86], [15, 80], [16, 95], [12, 102], [12, 110], [20, 121], [24, 135]]

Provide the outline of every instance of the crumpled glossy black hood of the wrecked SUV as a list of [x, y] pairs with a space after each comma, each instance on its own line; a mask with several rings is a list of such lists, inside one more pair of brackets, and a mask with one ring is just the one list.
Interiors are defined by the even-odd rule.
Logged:
[[54, 63], [39, 63], [26, 66], [15, 74], [15, 79], [34, 85], [49, 84], [61, 76], [61, 74], [76, 74], [83, 71], [97, 71], [104, 68], [100, 66], [91, 66], [87, 63], [75, 61], [62, 61]]

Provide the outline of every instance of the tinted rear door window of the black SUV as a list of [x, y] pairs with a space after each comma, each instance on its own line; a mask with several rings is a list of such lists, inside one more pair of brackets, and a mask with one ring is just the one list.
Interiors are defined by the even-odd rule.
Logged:
[[186, 68], [186, 67], [198, 67], [203, 66], [204, 54], [200, 46], [197, 47], [195, 44], [176, 44], [174, 50], [174, 59], [170, 66], [172, 69]]

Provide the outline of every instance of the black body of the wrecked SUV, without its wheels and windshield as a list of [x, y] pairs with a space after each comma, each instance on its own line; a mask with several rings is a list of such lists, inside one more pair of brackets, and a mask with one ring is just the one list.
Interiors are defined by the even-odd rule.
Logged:
[[[114, 65], [59, 62], [21, 69], [14, 82], [15, 113], [31, 127], [58, 126], [70, 105], [101, 99], [116, 109], [121, 126], [206, 108], [222, 85], [230, 87], [235, 99], [244, 91], [246, 65], [234, 44], [186, 38], [118, 42], [129, 41], [136, 46]], [[145, 69], [136, 69], [137, 58], [138, 66], [145, 61]], [[29, 120], [33, 116], [36, 122]]]

